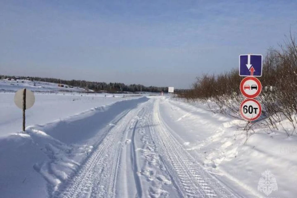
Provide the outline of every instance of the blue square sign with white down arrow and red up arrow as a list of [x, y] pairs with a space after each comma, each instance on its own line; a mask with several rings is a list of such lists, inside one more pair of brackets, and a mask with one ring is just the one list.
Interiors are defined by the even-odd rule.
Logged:
[[[251, 72], [251, 70], [253, 70], [253, 72]], [[253, 73], [253, 76], [262, 76], [262, 55], [239, 55], [239, 75], [250, 76], [251, 73]]]

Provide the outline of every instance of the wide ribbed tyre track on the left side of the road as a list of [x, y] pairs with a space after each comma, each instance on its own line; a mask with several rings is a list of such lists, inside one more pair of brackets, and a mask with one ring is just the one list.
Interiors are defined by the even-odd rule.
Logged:
[[105, 138], [94, 147], [79, 170], [54, 192], [52, 197], [113, 197], [123, 137], [129, 123], [133, 126], [133, 118], [138, 111], [139, 108], [125, 112], [106, 129], [108, 132]]

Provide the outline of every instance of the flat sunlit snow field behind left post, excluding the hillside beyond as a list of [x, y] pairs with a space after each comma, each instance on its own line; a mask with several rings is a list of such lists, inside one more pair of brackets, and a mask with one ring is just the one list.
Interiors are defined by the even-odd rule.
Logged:
[[[137, 98], [124, 98], [123, 94], [115, 97], [111, 94], [106, 97], [105, 94], [73, 94], [35, 93], [35, 104], [26, 111], [26, 126], [63, 120], [91, 108]], [[21, 131], [22, 112], [14, 104], [14, 93], [0, 93], [0, 101], [0, 137]]]

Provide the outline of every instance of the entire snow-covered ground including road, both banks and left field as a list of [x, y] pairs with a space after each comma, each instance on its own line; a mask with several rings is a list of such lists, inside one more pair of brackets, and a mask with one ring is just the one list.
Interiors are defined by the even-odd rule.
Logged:
[[166, 96], [35, 94], [19, 132], [0, 93], [0, 197], [296, 197], [296, 136], [243, 145], [244, 121]]

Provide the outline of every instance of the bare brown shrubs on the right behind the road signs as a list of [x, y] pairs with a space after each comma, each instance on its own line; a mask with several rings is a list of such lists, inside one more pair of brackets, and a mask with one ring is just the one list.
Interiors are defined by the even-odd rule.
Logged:
[[[220, 75], [202, 75], [197, 78], [191, 90], [180, 93], [178, 97], [188, 101], [207, 101], [212, 98], [219, 107], [219, 112], [235, 118], [239, 116], [239, 105], [243, 97], [239, 91], [240, 81], [238, 69]], [[280, 50], [268, 49], [263, 61], [262, 94], [258, 100], [262, 104], [262, 119], [272, 129], [284, 130], [281, 121], [289, 120], [294, 128], [297, 127], [297, 44], [290, 32]], [[249, 126], [249, 125], [248, 125]], [[251, 125], [252, 127], [253, 125]], [[249, 130], [252, 130], [248, 127]], [[247, 127], [246, 127], [247, 128]]]

